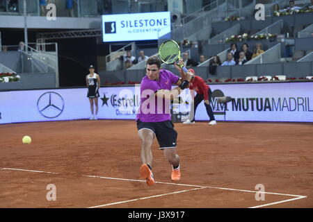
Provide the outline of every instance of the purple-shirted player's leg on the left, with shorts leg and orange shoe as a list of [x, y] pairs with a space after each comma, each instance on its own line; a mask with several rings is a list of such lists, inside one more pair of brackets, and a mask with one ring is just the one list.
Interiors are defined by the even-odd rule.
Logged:
[[141, 178], [145, 179], [148, 186], [154, 185], [154, 178], [152, 173], [152, 143], [154, 139], [154, 128], [152, 123], [137, 122], [138, 136], [141, 138]]

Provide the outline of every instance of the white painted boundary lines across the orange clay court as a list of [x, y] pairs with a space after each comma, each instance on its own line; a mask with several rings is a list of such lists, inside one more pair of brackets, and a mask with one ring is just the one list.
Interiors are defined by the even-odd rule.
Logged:
[[[15, 168], [0, 168], [1, 170], [13, 170], [13, 171], [28, 171], [28, 172], [35, 172], [35, 173], [53, 173], [53, 172], [47, 172], [47, 171], [34, 171], [34, 170], [29, 170], [29, 169], [15, 169]], [[58, 174], [58, 173], [53, 173], [53, 174]], [[83, 175], [86, 176], [86, 175]], [[133, 179], [124, 179], [124, 178], [111, 178], [111, 177], [104, 177], [104, 176], [86, 176], [86, 177], [90, 177], [90, 178], [103, 178], [103, 179], [108, 179], [108, 180], [124, 180], [124, 181], [133, 181], [133, 182], [145, 182], [145, 180], [133, 180]], [[198, 187], [195, 189], [204, 189], [204, 188], [211, 188], [211, 189], [224, 189], [224, 190], [231, 190], [231, 191], [241, 191], [241, 192], [249, 192], [249, 193], [259, 193], [259, 194], [273, 194], [273, 195], [280, 195], [280, 196], [295, 196], [296, 198], [291, 198], [288, 200], [281, 200], [278, 202], [273, 202], [273, 203], [267, 203], [264, 205], [257, 205], [255, 207], [248, 207], [248, 208], [259, 208], [259, 207], [266, 207], [268, 205], [275, 205], [275, 204], [279, 204], [279, 203], [284, 203], [284, 202], [289, 202], [289, 201], [293, 201], [293, 200], [298, 200], [298, 199], [302, 199], [302, 198], [307, 198], [307, 196], [300, 196], [300, 195], [295, 195], [295, 194], [280, 194], [280, 193], [273, 193], [273, 192], [262, 192], [262, 191], [254, 191], [254, 190], [247, 190], [247, 189], [232, 189], [232, 188], [225, 188], [225, 187], [210, 187], [210, 186], [201, 186], [201, 185], [186, 185], [186, 184], [180, 184], [180, 183], [174, 183], [174, 182], [155, 182], [155, 183], [159, 183], [159, 184], [164, 184], [164, 185], [177, 185], [177, 186], [186, 186], [186, 187]], [[191, 191], [191, 190], [195, 190], [195, 189], [186, 189], [184, 191], [178, 191], [178, 193], [182, 193], [182, 192], [186, 192], [186, 191]], [[156, 196], [151, 196], [151, 197], [146, 197], [146, 198], [152, 198], [152, 197], [158, 197], [158, 196], [165, 196], [165, 195], [170, 195], [170, 194], [176, 194], [177, 192], [173, 192], [173, 193], [169, 193], [169, 194], [160, 194], [160, 195], [156, 195]], [[125, 200], [122, 202], [117, 202], [117, 203], [109, 203], [109, 205], [115, 205], [115, 204], [119, 204], [119, 203], [127, 203], [127, 202], [131, 202], [131, 201], [135, 201], [135, 200], [142, 200], [145, 198], [138, 198], [138, 199], [134, 199], [134, 200]], [[101, 205], [101, 206], [105, 206], [105, 205]], [[97, 206], [95, 206], [97, 207]]]

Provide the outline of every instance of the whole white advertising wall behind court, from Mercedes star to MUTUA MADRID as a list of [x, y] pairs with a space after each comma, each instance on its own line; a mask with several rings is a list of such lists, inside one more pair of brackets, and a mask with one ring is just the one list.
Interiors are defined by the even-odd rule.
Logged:
[[[296, 121], [313, 122], [313, 82], [248, 83], [210, 85], [211, 106], [218, 121]], [[99, 119], [135, 119], [140, 105], [140, 86], [101, 87]], [[45, 89], [0, 92], [0, 123], [89, 119], [86, 88]], [[188, 104], [174, 104], [175, 112], [186, 119], [191, 109], [188, 89], [181, 94]], [[217, 98], [231, 96], [230, 103]], [[203, 102], [195, 121], [208, 121]]]

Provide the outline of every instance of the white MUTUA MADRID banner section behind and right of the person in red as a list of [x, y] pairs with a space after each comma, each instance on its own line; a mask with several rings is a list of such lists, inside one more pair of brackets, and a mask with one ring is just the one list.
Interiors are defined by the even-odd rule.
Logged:
[[[313, 121], [313, 83], [250, 83], [210, 85], [211, 106], [217, 120], [229, 121]], [[230, 103], [217, 103], [231, 96]], [[207, 120], [204, 105], [195, 119]]]

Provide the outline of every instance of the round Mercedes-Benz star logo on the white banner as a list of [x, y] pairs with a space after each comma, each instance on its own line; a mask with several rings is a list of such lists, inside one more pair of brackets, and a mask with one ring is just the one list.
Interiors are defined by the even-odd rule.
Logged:
[[64, 109], [64, 100], [56, 92], [45, 92], [37, 101], [38, 112], [47, 118], [58, 117]]

